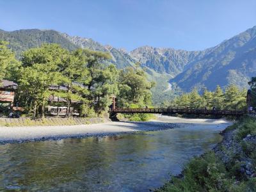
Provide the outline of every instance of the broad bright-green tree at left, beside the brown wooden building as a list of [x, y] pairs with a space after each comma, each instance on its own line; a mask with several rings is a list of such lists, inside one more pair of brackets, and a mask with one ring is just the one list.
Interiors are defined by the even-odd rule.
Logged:
[[44, 117], [45, 104], [51, 95], [49, 86], [63, 81], [58, 67], [66, 60], [67, 55], [68, 51], [56, 44], [44, 44], [41, 47], [29, 49], [22, 55], [19, 95], [25, 100], [31, 100], [34, 116], [38, 115], [38, 108], [41, 107], [42, 117]]

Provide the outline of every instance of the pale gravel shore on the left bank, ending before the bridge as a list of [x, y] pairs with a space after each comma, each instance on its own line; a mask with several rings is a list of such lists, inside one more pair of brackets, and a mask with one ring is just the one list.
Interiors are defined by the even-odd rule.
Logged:
[[[62, 140], [66, 138], [84, 138], [91, 136], [117, 136], [120, 134], [134, 134], [136, 132], [142, 131], [160, 131], [163, 129], [173, 129], [180, 126], [182, 126], [182, 124], [151, 121], [106, 122], [104, 124], [66, 126], [0, 127], [0, 145], [7, 143]], [[9, 134], [7, 133], [8, 131]], [[5, 135], [4, 132], [6, 132]], [[29, 134], [26, 135], [28, 132]]]

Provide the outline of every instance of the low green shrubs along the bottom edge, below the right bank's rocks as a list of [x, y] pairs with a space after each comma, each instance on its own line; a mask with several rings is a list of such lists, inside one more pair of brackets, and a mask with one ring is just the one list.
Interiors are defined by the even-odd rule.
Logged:
[[225, 164], [216, 157], [214, 152], [208, 152], [202, 157], [195, 157], [184, 168], [184, 178], [173, 177], [171, 182], [165, 184], [157, 191], [253, 191], [255, 178], [237, 182], [234, 174], [240, 164], [226, 170]]

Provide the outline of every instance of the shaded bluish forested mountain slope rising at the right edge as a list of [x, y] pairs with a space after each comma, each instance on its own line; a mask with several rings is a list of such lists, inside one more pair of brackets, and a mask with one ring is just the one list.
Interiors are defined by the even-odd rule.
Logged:
[[256, 26], [205, 51], [200, 60], [189, 63], [172, 83], [185, 91], [214, 89], [216, 84], [237, 84], [241, 88], [256, 76]]

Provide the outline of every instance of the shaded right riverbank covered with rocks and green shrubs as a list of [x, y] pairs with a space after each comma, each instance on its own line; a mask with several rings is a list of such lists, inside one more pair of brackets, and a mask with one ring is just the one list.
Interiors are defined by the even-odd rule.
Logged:
[[182, 174], [157, 191], [256, 191], [255, 118], [244, 118], [221, 134], [221, 143], [189, 161]]

